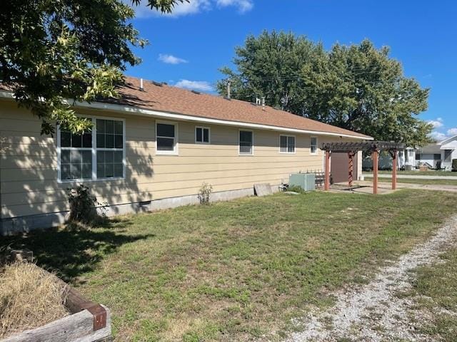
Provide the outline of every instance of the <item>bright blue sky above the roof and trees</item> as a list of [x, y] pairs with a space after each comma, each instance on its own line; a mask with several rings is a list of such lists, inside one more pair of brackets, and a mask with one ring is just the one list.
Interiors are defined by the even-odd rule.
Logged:
[[235, 46], [248, 34], [293, 31], [326, 48], [333, 43], [390, 46], [406, 76], [431, 88], [421, 114], [435, 126], [433, 136], [457, 135], [457, 1], [451, 0], [190, 0], [173, 15], [136, 8], [134, 26], [150, 45], [128, 75], [184, 88], [214, 91], [233, 66]]

